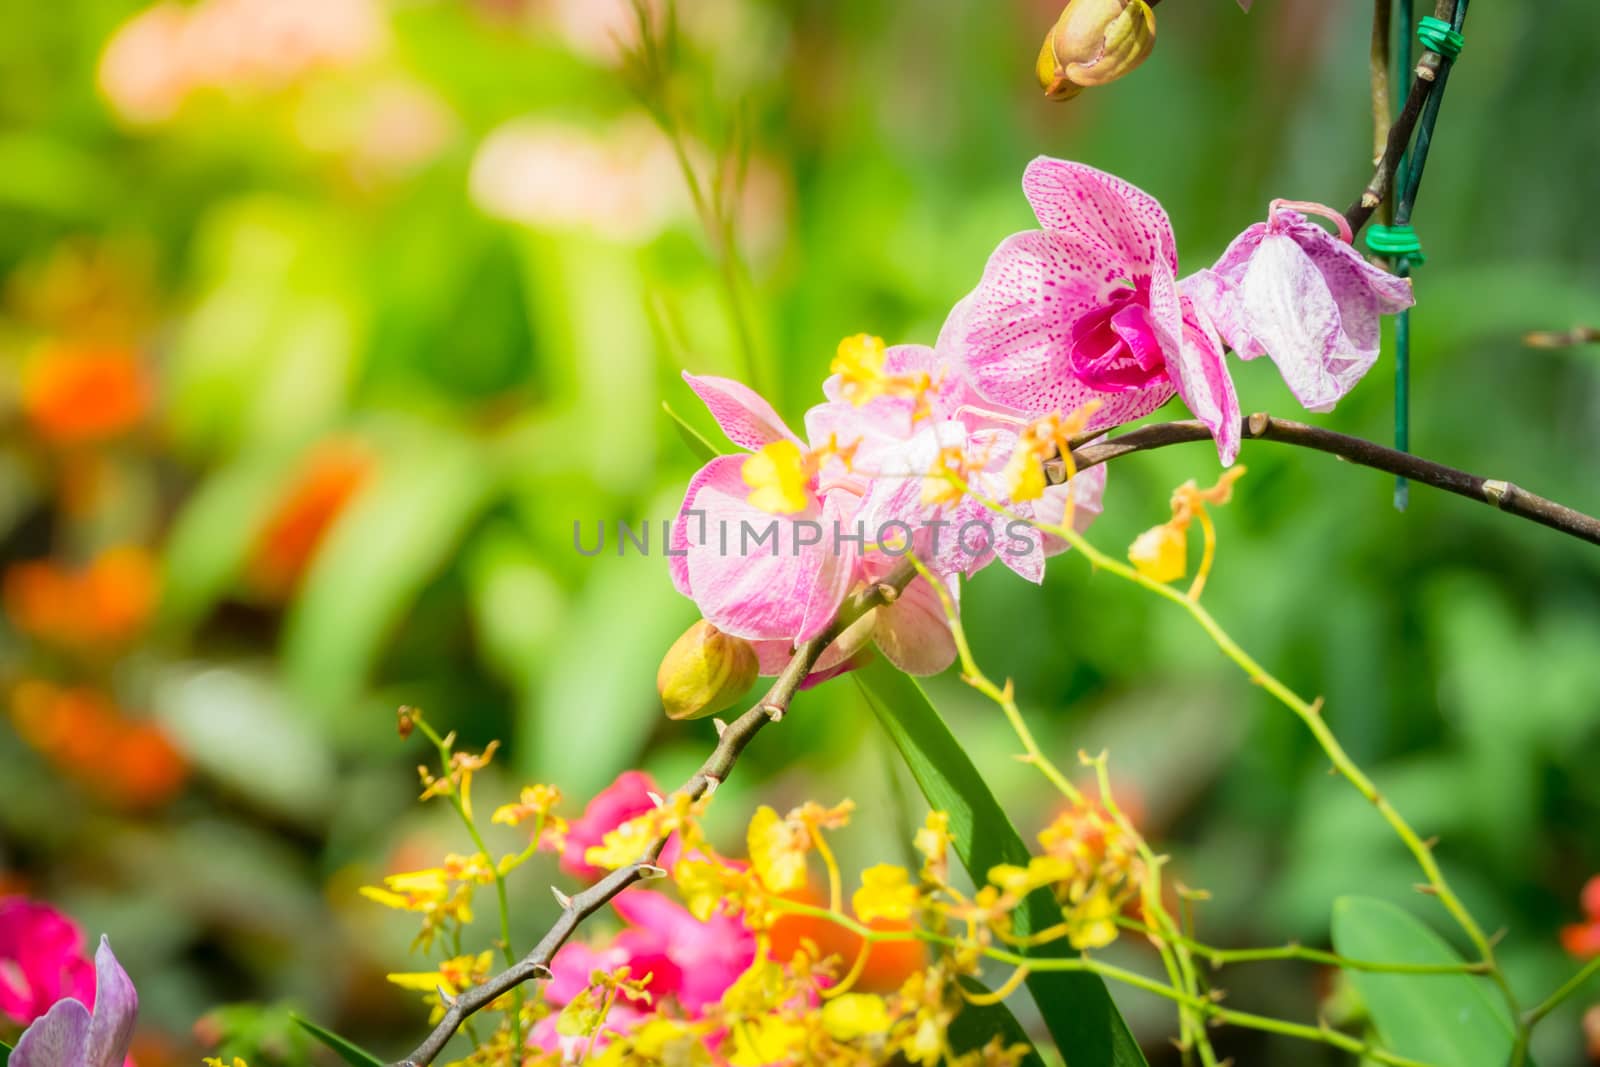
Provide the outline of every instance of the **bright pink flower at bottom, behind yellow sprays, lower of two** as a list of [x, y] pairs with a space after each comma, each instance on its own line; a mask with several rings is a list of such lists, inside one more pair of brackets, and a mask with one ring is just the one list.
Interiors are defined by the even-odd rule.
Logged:
[[[651, 889], [629, 889], [611, 902], [627, 926], [605, 945], [568, 942], [550, 960], [554, 977], [544, 997], [555, 1006], [570, 1003], [587, 985], [594, 971], [629, 968], [632, 977], [650, 976], [654, 1008], [672, 1000], [680, 1014], [698, 1019], [755, 961], [755, 934], [734, 915], [712, 915], [699, 921], [683, 905]], [[605, 1032], [594, 1049], [605, 1048], [606, 1033], [627, 1033], [648, 1017], [645, 1011], [618, 1000], [606, 1016]], [[562, 1038], [555, 1016], [541, 1019], [530, 1038], [533, 1048], [578, 1057], [589, 1038]]]

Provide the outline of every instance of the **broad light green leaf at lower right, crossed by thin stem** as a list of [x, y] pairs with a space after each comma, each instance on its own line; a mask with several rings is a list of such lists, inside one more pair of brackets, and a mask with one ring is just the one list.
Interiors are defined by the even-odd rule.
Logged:
[[[1410, 912], [1365, 896], [1333, 902], [1333, 947], [1350, 960], [1461, 963], [1443, 937]], [[1384, 1046], [1451, 1067], [1504, 1067], [1512, 1027], [1486, 977], [1347, 971]]]

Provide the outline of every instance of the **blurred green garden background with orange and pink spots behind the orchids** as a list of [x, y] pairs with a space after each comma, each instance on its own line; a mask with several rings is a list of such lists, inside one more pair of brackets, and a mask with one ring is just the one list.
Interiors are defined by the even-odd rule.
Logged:
[[[1413, 315], [1416, 450], [1590, 512], [1600, 357], [1520, 338], [1600, 323], [1600, 125], [1574, 122], [1600, 98], [1592, 14], [1474, 6], [1414, 216]], [[1365, 182], [1368, 5], [1168, 0], [1150, 61], [1069, 104], [1032, 80], [1054, 16], [682, 3], [685, 155], [707, 197], [744, 174], [720, 194], [733, 317], [722, 245], [619, 72], [624, 0], [5, 5], [0, 894], [112, 934], [144, 1067], [219, 1035], [254, 1067], [304, 1062], [285, 1006], [379, 1053], [422, 1032], [382, 979], [422, 969], [414, 926], [355, 889], [469, 845], [416, 803], [398, 704], [469, 747], [504, 741], [480, 805], [547, 781], [576, 813], [624, 768], [674, 784], [699, 763], [710, 725], [667, 723], [653, 689], [693, 605], [659, 555], [573, 547], [574, 522], [590, 544], [675, 510], [698, 462], [662, 402], [720, 443], [680, 370], [755, 378], [798, 424], [842, 336], [934, 339], [1032, 226], [1037, 154], [1155, 194], [1184, 270], [1274, 197], [1344, 206]], [[1390, 373], [1314, 418], [1387, 440]], [[1246, 411], [1294, 414], [1266, 360], [1237, 381]], [[1256, 443], [1242, 462], [1210, 606], [1326, 697], [1504, 928], [1525, 998], [1547, 992], [1600, 870], [1600, 553], [1426, 490], [1398, 514], [1386, 477], [1325, 456]], [[1117, 464], [1091, 536], [1122, 550], [1214, 474], [1200, 445]], [[1067, 557], [1042, 589], [990, 568], [965, 617], [1058, 761], [1110, 750], [1176, 877], [1211, 891], [1205, 939], [1323, 944], [1341, 893], [1445, 929], [1382, 822], [1179, 613]], [[998, 713], [954, 675], [931, 691], [1037, 832], [1054, 801]], [[747, 753], [714, 822], [736, 838], [758, 801], [846, 795], [846, 865], [899, 857], [920, 801], [835, 681]], [[522, 936], [549, 921], [552, 875], [515, 877]], [[1310, 1021], [1331, 976], [1227, 985]], [[1174, 1062], [1166, 1006], [1117, 995]], [[1539, 1062], [1582, 1062], [1582, 1006], [1544, 1025]]]

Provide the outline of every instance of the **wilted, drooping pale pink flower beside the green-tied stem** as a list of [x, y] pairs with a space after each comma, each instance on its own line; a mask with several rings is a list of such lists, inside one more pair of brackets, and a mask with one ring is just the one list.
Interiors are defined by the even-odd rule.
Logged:
[[[1339, 237], [1301, 211], [1339, 224]], [[1190, 291], [1242, 358], [1270, 355], [1290, 392], [1328, 411], [1378, 362], [1381, 315], [1411, 307], [1411, 282], [1366, 262], [1333, 208], [1274, 200]]]

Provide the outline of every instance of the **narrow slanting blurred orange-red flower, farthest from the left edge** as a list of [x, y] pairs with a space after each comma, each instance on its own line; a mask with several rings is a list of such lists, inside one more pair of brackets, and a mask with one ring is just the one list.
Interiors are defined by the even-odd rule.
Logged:
[[331, 438], [307, 454], [277, 509], [256, 534], [245, 581], [258, 593], [283, 600], [350, 498], [373, 474], [371, 451], [350, 438]]

